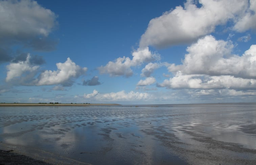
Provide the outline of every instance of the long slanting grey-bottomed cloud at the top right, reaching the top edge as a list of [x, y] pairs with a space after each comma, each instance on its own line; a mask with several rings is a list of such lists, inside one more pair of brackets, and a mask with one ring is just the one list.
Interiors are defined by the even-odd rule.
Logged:
[[[200, 0], [199, 3], [201, 7], [197, 7], [193, 0], [187, 0], [184, 7], [177, 6], [150, 20], [141, 36], [140, 47], [152, 45], [162, 48], [192, 42], [213, 32], [217, 25], [224, 25], [227, 21], [236, 19], [237, 15], [241, 15], [248, 8], [247, 0]], [[254, 4], [254, 1], [251, 1], [252, 8]], [[254, 26], [255, 19], [248, 15], [246, 23], [250, 22], [249, 24]], [[247, 25], [246, 23], [241, 24]]]

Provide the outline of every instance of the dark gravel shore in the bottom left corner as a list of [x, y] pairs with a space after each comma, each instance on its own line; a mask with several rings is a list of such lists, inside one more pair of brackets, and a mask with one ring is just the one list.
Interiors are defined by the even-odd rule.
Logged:
[[13, 153], [13, 150], [0, 150], [0, 165], [52, 165], [25, 155]]

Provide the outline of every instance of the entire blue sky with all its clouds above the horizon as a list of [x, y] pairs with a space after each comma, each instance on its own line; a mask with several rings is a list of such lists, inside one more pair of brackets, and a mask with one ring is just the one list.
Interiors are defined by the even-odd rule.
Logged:
[[0, 0], [0, 102], [256, 100], [256, 0]]

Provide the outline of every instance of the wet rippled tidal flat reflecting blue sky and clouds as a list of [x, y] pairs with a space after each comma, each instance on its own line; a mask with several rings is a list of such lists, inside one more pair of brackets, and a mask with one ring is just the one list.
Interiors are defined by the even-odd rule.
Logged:
[[0, 141], [97, 164], [256, 164], [256, 104], [0, 107]]

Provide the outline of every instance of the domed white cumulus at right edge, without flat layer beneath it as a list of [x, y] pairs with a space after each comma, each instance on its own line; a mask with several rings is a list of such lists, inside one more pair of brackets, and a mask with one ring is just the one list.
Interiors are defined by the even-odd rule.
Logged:
[[256, 45], [242, 56], [232, 55], [233, 44], [208, 35], [187, 48], [183, 64], [171, 64], [169, 72], [183, 74], [232, 75], [256, 78]]

